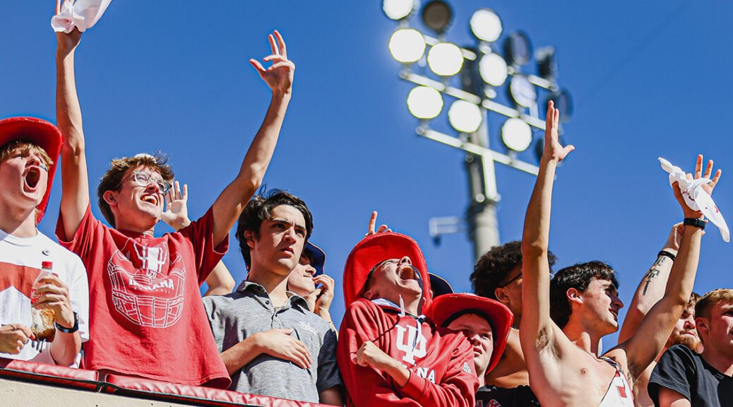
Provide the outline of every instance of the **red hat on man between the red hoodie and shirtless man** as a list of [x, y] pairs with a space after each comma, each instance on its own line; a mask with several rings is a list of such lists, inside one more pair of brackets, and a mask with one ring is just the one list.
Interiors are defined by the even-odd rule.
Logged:
[[444, 294], [432, 301], [425, 315], [432, 319], [435, 326], [443, 326], [446, 325], [446, 321], [452, 320], [454, 315], [471, 313], [472, 310], [486, 315], [493, 329], [494, 350], [486, 370], [488, 373], [501, 359], [501, 353], [504, 353], [504, 348], [507, 347], [509, 331], [512, 329], [514, 315], [506, 305], [490, 298], [476, 296], [476, 294]]

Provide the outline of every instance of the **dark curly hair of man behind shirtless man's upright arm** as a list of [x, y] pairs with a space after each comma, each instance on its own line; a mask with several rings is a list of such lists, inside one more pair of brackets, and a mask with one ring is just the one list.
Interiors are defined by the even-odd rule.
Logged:
[[[557, 262], [552, 252], [548, 252], [550, 271]], [[471, 286], [477, 296], [496, 300], [494, 291], [512, 273], [517, 265], [522, 264], [522, 242], [511, 241], [501, 246], [494, 246], [486, 252], [474, 265], [471, 273]]]

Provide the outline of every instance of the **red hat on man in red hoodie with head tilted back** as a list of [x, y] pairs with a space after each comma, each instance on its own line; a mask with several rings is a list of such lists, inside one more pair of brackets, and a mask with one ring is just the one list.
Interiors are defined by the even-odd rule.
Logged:
[[427, 274], [427, 263], [420, 246], [413, 238], [395, 232], [382, 232], [369, 235], [356, 244], [346, 259], [344, 267], [344, 301], [348, 308], [351, 303], [364, 295], [364, 284], [369, 271], [375, 265], [388, 259], [399, 259], [408, 256], [413, 267], [420, 272], [422, 280], [422, 307], [427, 307], [432, 300], [430, 294], [430, 277]]

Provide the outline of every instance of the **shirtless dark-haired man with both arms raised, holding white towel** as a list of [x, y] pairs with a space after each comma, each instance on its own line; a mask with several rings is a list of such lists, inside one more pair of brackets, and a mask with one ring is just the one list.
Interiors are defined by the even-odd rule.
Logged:
[[[600, 339], [618, 329], [619, 300], [613, 270], [600, 262], [574, 265], [553, 278], [550, 298], [548, 241], [552, 187], [557, 164], [574, 147], [559, 144], [559, 111], [548, 106], [545, 152], [530, 199], [522, 240], [523, 318], [520, 341], [527, 361], [529, 382], [542, 406], [633, 406], [632, 389], [644, 369], [663, 348], [674, 323], [685, 309], [695, 280], [704, 221], [685, 205], [674, 184], [674, 194], [685, 213], [677, 260], [663, 298], [649, 310], [629, 340], [598, 358]], [[712, 166], [709, 165], [707, 175]], [[701, 156], [696, 177], [701, 174]], [[712, 190], [720, 173], [708, 185]], [[691, 175], [690, 175], [691, 177]], [[586, 287], [578, 281], [585, 280]], [[550, 318], [550, 299], [553, 318]], [[565, 304], [566, 312], [556, 307]]]

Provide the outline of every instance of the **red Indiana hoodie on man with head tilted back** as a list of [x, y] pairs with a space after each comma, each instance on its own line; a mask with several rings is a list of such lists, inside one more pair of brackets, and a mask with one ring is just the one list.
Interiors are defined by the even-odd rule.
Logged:
[[[400, 388], [389, 375], [356, 364], [356, 352], [367, 340], [410, 370]], [[430, 321], [381, 307], [364, 298], [346, 309], [337, 346], [339, 370], [348, 407], [474, 407], [479, 379], [473, 346], [463, 334], [435, 329]]]

